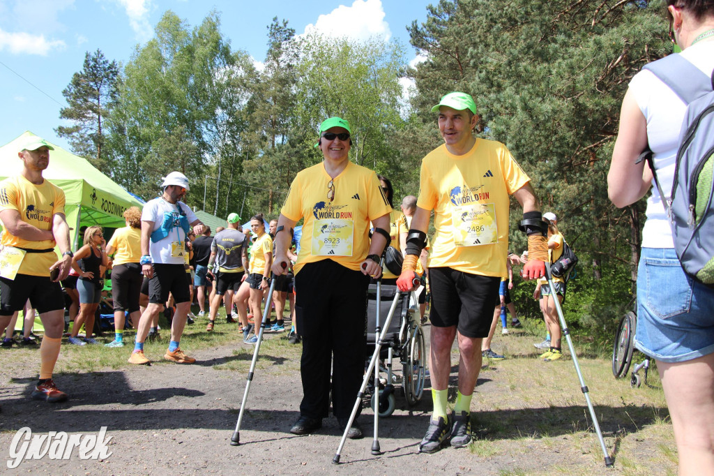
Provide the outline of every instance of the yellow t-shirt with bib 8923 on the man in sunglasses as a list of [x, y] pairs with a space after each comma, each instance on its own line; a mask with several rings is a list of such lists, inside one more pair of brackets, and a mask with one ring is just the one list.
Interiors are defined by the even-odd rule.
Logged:
[[[327, 198], [333, 180], [334, 200]], [[334, 179], [321, 162], [298, 172], [281, 209], [288, 219], [304, 218], [295, 274], [306, 263], [332, 259], [358, 270], [369, 251], [371, 221], [391, 212], [372, 170], [352, 162]]]

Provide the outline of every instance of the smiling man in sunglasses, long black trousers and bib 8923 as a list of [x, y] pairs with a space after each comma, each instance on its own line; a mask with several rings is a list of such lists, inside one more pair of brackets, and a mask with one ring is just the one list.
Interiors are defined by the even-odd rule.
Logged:
[[[364, 374], [367, 287], [379, 278], [379, 257], [390, 238], [388, 201], [376, 174], [349, 162], [350, 124], [339, 117], [320, 125], [316, 147], [323, 162], [298, 172], [276, 229], [273, 273], [288, 263], [292, 229], [304, 219], [293, 266], [297, 332], [303, 338], [300, 419], [291, 428], [306, 435], [322, 427], [332, 407], [344, 429]], [[374, 233], [369, 238], [370, 222]], [[348, 437], [363, 436], [356, 419]]]

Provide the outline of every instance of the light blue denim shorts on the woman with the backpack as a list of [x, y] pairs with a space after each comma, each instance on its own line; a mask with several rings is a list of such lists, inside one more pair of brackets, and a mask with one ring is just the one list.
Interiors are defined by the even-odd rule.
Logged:
[[714, 352], [714, 289], [683, 271], [673, 248], [643, 248], [635, 347], [661, 362]]

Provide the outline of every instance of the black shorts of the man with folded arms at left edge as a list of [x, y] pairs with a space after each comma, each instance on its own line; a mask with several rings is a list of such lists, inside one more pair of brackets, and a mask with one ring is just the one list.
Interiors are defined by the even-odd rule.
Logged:
[[59, 282], [51, 282], [49, 276], [17, 274], [14, 281], [0, 278], [0, 316], [21, 311], [27, 299], [40, 314], [64, 309], [62, 288]]

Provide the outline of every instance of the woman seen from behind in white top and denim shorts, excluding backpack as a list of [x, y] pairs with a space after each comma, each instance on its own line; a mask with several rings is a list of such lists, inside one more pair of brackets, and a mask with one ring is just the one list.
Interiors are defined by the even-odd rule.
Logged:
[[[706, 76], [714, 69], [714, 1], [667, 0], [670, 37]], [[675, 72], [675, 70], [671, 71]], [[692, 81], [682, 74], [679, 84]], [[653, 174], [637, 159], [649, 148], [669, 194], [687, 104], [653, 71], [636, 74], [623, 99], [608, 173], [617, 207], [645, 196]], [[669, 197], [665, 197], [668, 199]], [[685, 274], [660, 193], [647, 202], [638, 268], [635, 347], [653, 357], [672, 418], [680, 475], [714, 475], [714, 288]]]

